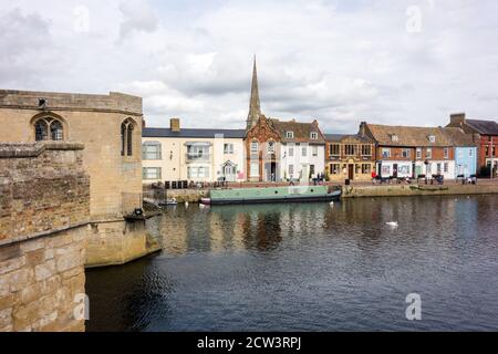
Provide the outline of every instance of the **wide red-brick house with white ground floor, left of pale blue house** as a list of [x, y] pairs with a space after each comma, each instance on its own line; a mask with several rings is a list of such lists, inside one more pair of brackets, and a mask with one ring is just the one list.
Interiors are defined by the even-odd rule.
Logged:
[[376, 144], [382, 177], [455, 176], [455, 150], [440, 127], [390, 126], [362, 123], [362, 132]]

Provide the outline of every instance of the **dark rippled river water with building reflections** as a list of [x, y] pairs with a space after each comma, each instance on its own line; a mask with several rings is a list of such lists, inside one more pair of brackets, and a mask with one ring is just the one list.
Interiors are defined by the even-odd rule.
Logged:
[[87, 271], [86, 329], [496, 331], [497, 208], [496, 196], [180, 206], [149, 221], [162, 254]]

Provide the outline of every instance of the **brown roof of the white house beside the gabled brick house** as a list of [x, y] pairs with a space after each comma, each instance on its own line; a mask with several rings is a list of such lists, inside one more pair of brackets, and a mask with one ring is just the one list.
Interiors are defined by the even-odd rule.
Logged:
[[[279, 133], [282, 143], [325, 144], [325, 137], [315, 123], [283, 122], [274, 118], [270, 118], [269, 122]], [[288, 138], [287, 132], [293, 132], [294, 137]], [[318, 139], [311, 139], [311, 133], [318, 133]]]

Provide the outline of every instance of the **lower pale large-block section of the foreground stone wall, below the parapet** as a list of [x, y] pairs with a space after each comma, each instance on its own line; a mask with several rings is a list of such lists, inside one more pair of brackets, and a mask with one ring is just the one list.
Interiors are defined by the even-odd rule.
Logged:
[[87, 227], [0, 247], [0, 332], [81, 332]]

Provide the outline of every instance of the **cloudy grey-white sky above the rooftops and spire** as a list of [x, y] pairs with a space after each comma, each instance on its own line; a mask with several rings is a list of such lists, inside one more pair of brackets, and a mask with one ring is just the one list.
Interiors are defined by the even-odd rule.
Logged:
[[498, 116], [496, 0], [0, 0], [0, 87], [144, 97], [148, 126]]

